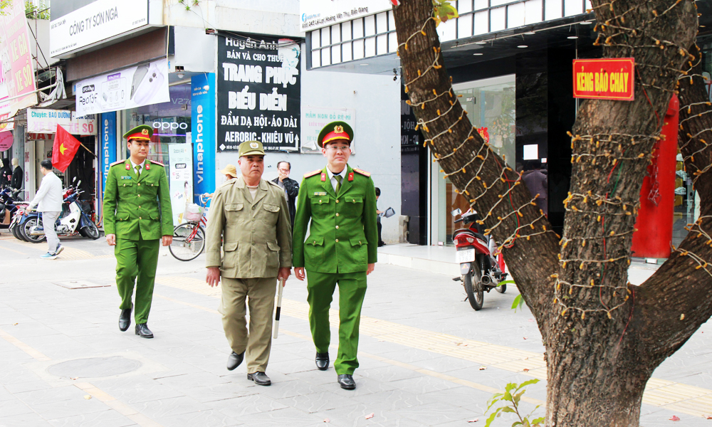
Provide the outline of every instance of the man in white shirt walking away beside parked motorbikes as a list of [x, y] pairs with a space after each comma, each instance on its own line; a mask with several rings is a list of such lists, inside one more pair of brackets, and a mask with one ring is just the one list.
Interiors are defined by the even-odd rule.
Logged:
[[52, 162], [48, 159], [40, 162], [40, 171], [44, 178], [40, 188], [37, 190], [37, 194], [35, 194], [35, 198], [27, 206], [25, 214], [39, 205], [37, 210], [42, 213], [42, 223], [49, 246], [47, 253], [40, 258], [53, 260], [64, 250], [64, 247], [59, 243], [59, 238], [54, 228], [59, 214], [62, 213], [62, 180], [52, 172]]

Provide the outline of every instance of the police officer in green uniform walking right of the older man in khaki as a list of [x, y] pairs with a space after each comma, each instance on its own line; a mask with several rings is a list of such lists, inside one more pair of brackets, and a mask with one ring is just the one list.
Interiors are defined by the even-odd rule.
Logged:
[[[339, 350], [334, 367], [342, 389], [355, 389], [358, 329], [366, 275], [376, 263], [376, 193], [368, 172], [350, 167], [353, 130], [332, 122], [319, 133], [324, 169], [305, 174], [294, 219], [295, 276], [307, 278], [309, 325], [316, 366], [329, 367], [329, 308], [339, 285]], [[311, 223], [310, 223], [311, 221]], [[309, 228], [309, 236], [306, 231]]]

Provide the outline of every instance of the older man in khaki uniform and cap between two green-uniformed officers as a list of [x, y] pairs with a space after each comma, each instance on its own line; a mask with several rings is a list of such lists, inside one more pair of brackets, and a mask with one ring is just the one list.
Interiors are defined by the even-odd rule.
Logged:
[[292, 267], [292, 230], [284, 191], [262, 179], [264, 155], [261, 142], [240, 144], [242, 176], [215, 191], [206, 238], [206, 282], [216, 286], [222, 278], [220, 312], [232, 349], [227, 369], [238, 367], [246, 355], [247, 379], [268, 386], [274, 295], [277, 280], [286, 280]]

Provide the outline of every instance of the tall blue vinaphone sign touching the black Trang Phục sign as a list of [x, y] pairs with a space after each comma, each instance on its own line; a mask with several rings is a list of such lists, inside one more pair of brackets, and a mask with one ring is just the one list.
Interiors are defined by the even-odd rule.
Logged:
[[[193, 194], [215, 191], [215, 73], [191, 79], [191, 135], [193, 141]], [[194, 203], [200, 203], [193, 196]]]

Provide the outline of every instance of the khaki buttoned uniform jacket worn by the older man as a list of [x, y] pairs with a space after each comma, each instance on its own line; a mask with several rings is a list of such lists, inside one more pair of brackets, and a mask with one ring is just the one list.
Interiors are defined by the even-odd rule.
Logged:
[[227, 181], [210, 204], [206, 244], [206, 267], [219, 267], [226, 278], [274, 278], [279, 268], [291, 268], [284, 190], [261, 179], [253, 201], [242, 177]]

